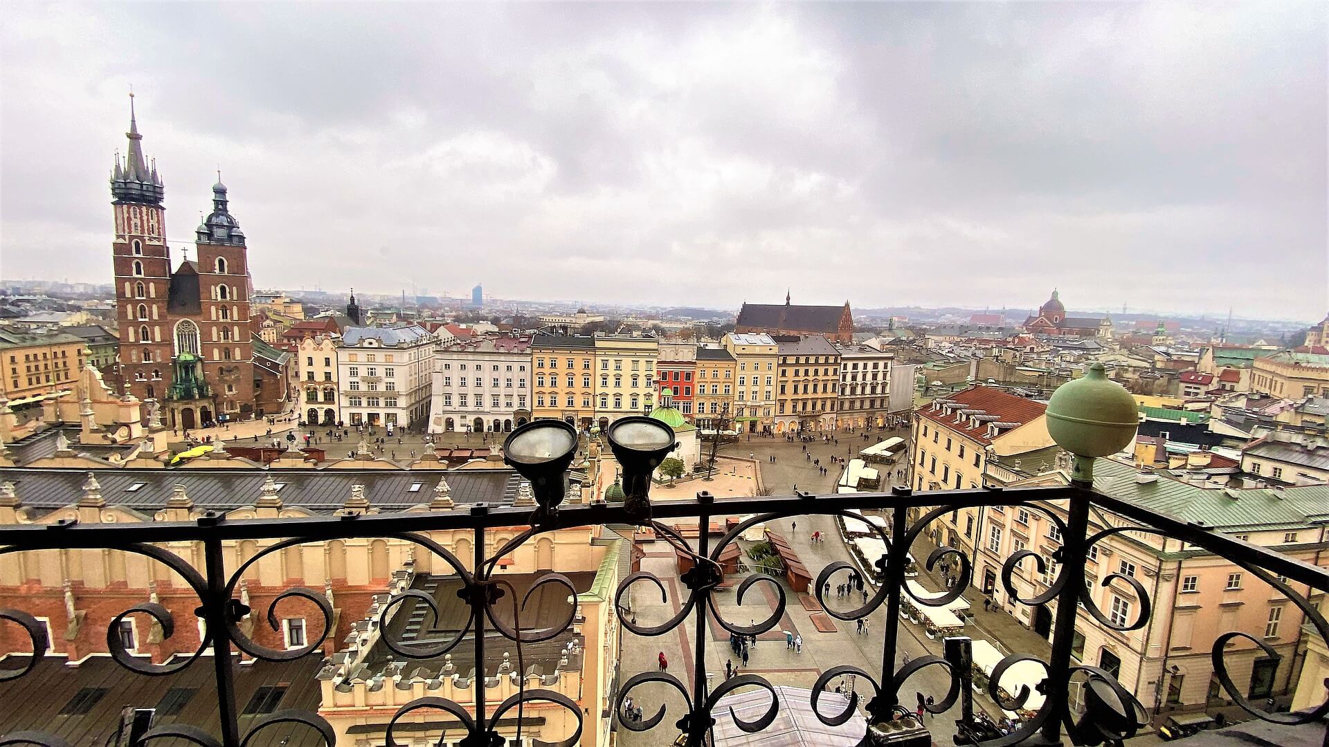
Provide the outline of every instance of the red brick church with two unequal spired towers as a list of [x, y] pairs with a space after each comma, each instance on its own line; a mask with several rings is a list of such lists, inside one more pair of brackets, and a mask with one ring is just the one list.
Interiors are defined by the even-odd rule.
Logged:
[[226, 185], [213, 186], [213, 211], [195, 231], [198, 259], [171, 271], [165, 187], [144, 158], [133, 98], [128, 136], [110, 178], [121, 379], [138, 399], [158, 400], [167, 427], [247, 419], [255, 413], [249, 253]]

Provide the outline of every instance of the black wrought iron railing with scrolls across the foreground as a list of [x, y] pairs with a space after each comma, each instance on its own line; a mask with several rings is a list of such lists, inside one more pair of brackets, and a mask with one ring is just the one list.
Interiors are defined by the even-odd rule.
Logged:
[[[1051, 501], [1065, 501], [1057, 505], [1065, 508], [1065, 518], [1061, 510], [1053, 510]], [[262, 557], [280, 552], [282, 549], [304, 542], [332, 541], [344, 538], [395, 538], [411, 542], [451, 568], [451, 573], [460, 580], [461, 590], [459, 597], [469, 607], [468, 629], [470, 635], [465, 638], [474, 647], [474, 661], [485, 662], [485, 631], [497, 631], [501, 637], [514, 642], [518, 651], [522, 645], [540, 641], [549, 641], [563, 629], [574, 623], [577, 610], [575, 602], [571, 615], [563, 626], [550, 626], [544, 629], [526, 629], [517, 619], [517, 625], [509, 626], [496, 614], [497, 605], [513, 605], [513, 591], [505, 585], [501, 573], [496, 573], [496, 564], [500, 558], [510, 553], [522, 544], [532, 541], [542, 533], [556, 529], [566, 529], [587, 525], [647, 525], [654, 529], [657, 537], [670, 542], [680, 553], [691, 558], [691, 569], [682, 574], [680, 581], [686, 587], [686, 599], [678, 599], [678, 611], [661, 625], [646, 625], [635, 622], [631, 614], [621, 615], [621, 625], [629, 635], [658, 637], [680, 626], [691, 623], [695, 626], [692, 637], [694, 658], [691, 682], [684, 682], [667, 671], [646, 671], [626, 677], [617, 691], [611, 694], [614, 703], [613, 715], [618, 720], [619, 728], [630, 731], [655, 730], [658, 738], [651, 743], [670, 743], [676, 735], [688, 746], [703, 746], [712, 742], [712, 728], [716, 719], [735, 719], [738, 727], [744, 731], [760, 731], [769, 726], [777, 715], [775, 690], [772, 685], [759, 675], [740, 674], [730, 678], [715, 687], [708, 687], [707, 673], [707, 626], [714, 619], [720, 627], [734, 635], [754, 635], [771, 630], [783, 615], [785, 605], [784, 586], [775, 578], [764, 574], [747, 576], [736, 589], [738, 601], [742, 603], [744, 594], [758, 584], [767, 584], [772, 587], [777, 599], [775, 609], [760, 622], [739, 625], [724, 619], [718, 606], [716, 593], [724, 582], [720, 557], [726, 548], [734, 544], [740, 533], [755, 524], [769, 522], [784, 517], [841, 516], [856, 518], [851, 509], [878, 509], [886, 512], [889, 529], [872, 525], [882, 542], [886, 553], [873, 565], [881, 580], [876, 593], [857, 609], [836, 610], [835, 605], [827, 605], [823, 590], [828, 587], [828, 581], [833, 574], [848, 573], [855, 568], [848, 562], [832, 562], [823, 568], [816, 577], [813, 594], [821, 602], [825, 611], [843, 621], [855, 621], [880, 607], [885, 606], [888, 621], [901, 619], [901, 606], [904, 603], [920, 606], [944, 606], [960, 597], [970, 586], [974, 562], [956, 548], [942, 546], [922, 561], [928, 569], [937, 566], [942, 560], [948, 565], [958, 568], [958, 582], [953, 589], [942, 594], [930, 597], [912, 597], [905, 585], [906, 558], [909, 548], [916, 538], [928, 530], [930, 522], [942, 516], [966, 508], [979, 506], [1022, 506], [1035, 510], [1051, 521], [1061, 532], [1062, 546], [1058, 557], [1058, 570], [1043, 593], [1021, 598], [1013, 585], [1013, 574], [1023, 561], [1033, 558], [1033, 564], [1042, 572], [1043, 560], [1033, 552], [1021, 550], [1011, 554], [1005, 561], [1002, 584], [1006, 593], [1015, 602], [1027, 606], [1041, 606], [1057, 602], [1055, 627], [1051, 639], [1051, 653], [1046, 661], [1031, 654], [1011, 654], [1006, 657], [995, 670], [987, 685], [989, 695], [1002, 708], [1018, 710], [1030, 696], [1027, 689], [1014, 696], [1003, 694], [998, 682], [1002, 673], [1011, 665], [1021, 661], [1034, 661], [1046, 671], [1046, 678], [1038, 685], [1043, 695], [1042, 706], [1037, 712], [1025, 719], [1018, 728], [1007, 734], [994, 732], [981, 724], [973, 716], [973, 703], [970, 702], [971, 674], [966, 659], [966, 647], [961, 643], [949, 645], [946, 655], [924, 655], [908, 661], [897, 667], [897, 651], [900, 650], [898, 623], [888, 623], [881, 631], [884, 641], [882, 661], [872, 667], [861, 667], [847, 663], [835, 666], [821, 673], [812, 689], [812, 708], [817, 718], [827, 724], [843, 724], [856, 712], [863, 712], [869, 724], [868, 734], [863, 743], [876, 743], [873, 739], [881, 736], [880, 743], [886, 743], [892, 728], [918, 730], [921, 723], [916, 723], [916, 716], [909, 707], [902, 703], [901, 693], [905, 683], [917, 673], [928, 670], [945, 671], [950, 679], [949, 693], [936, 702], [926, 703], [926, 710], [932, 714], [949, 711], [960, 706], [961, 719], [958, 723], [957, 740], [970, 740], [1001, 747], [1006, 744], [1099, 744], [1114, 743], [1136, 734], [1146, 723], [1147, 711], [1136, 700], [1128, 689], [1122, 686], [1112, 673], [1099, 667], [1078, 663], [1073, 657], [1073, 637], [1075, 633], [1076, 610], [1084, 609], [1099, 625], [1118, 631], [1135, 630], [1144, 626], [1150, 618], [1150, 597], [1144, 586], [1131, 576], [1110, 574], [1103, 580], [1106, 584], [1118, 580], [1131, 586], [1140, 601], [1140, 611], [1134, 621], [1114, 619], [1100, 610], [1088, 594], [1086, 577], [1086, 558], [1090, 548], [1123, 532], [1154, 533], [1187, 542], [1193, 548], [1208, 550], [1221, 556], [1245, 572], [1252, 573], [1271, 587], [1285, 595], [1304, 614], [1306, 621], [1320, 635], [1329, 635], [1329, 626], [1316, 606], [1306, 595], [1296, 591], [1292, 585], [1306, 585], [1313, 591], [1329, 591], [1329, 570], [1308, 565], [1289, 556], [1272, 552], [1265, 548], [1215, 533], [1205, 526], [1185, 522], [1171, 516], [1142, 508], [1128, 501], [1118, 500], [1083, 486], [1053, 486], [1053, 488], [1022, 488], [1022, 489], [970, 489], [913, 493], [908, 489], [897, 488], [889, 493], [851, 493], [833, 496], [793, 494], [779, 497], [738, 497], [716, 500], [707, 493], [699, 493], [696, 501], [657, 502], [653, 506], [654, 520], [643, 520], [639, 509], [629, 510], [623, 505], [606, 504], [577, 504], [566, 505], [557, 513], [540, 520], [538, 526], [528, 528], [513, 540], [504, 544], [492, 556], [485, 557], [486, 540], [492, 540], [494, 532], [509, 526], [529, 526], [532, 513], [522, 508], [492, 508], [486, 505], [472, 505], [457, 510], [440, 513], [384, 513], [384, 514], [351, 514], [319, 518], [282, 518], [278, 521], [264, 520], [223, 520], [215, 514], [206, 514], [193, 522], [153, 522], [153, 524], [77, 524], [61, 522], [52, 526], [5, 526], [0, 528], [0, 556], [23, 553], [43, 549], [117, 549], [129, 553], [146, 556], [155, 562], [163, 564], [186, 580], [193, 593], [198, 595], [199, 607], [197, 614], [206, 622], [206, 633], [199, 651], [178, 661], [166, 663], [150, 663], [141, 658], [129, 655], [124, 645], [116, 635], [116, 625], [128, 614], [148, 614], [154, 617], [170, 637], [174, 621], [170, 611], [157, 603], [140, 603], [125, 610], [112, 621], [108, 631], [108, 646], [110, 654], [121, 666], [146, 675], [161, 675], [178, 671], [189, 666], [209, 666], [199, 661], [203, 649], [213, 653], [213, 669], [218, 691], [218, 715], [221, 722], [219, 734], [207, 734], [201, 728], [189, 724], [158, 724], [141, 735], [140, 743], [152, 743], [155, 739], [175, 738], [205, 747], [242, 747], [245, 744], [262, 744], [264, 739], [256, 736], [258, 732], [268, 728], [274, 723], [299, 723], [315, 730], [322, 739], [332, 744], [335, 742], [334, 730], [323, 718], [314, 712], [276, 711], [270, 716], [250, 724], [242, 734], [241, 720], [237, 714], [235, 689], [233, 686], [233, 666], [230, 654], [233, 650], [243, 651], [250, 657], [267, 661], [292, 661], [304, 655], [311, 655], [319, 650], [323, 637], [310, 641], [303, 647], [294, 651], [282, 651], [256, 643], [239, 627], [239, 621], [250, 613], [237, 597], [237, 584], [245, 570]], [[1102, 509], [1122, 517], [1127, 524], [1111, 526], [1090, 534], [1091, 510]], [[728, 529], [723, 536], [714, 536], [711, 520], [718, 517], [747, 516], [738, 525]], [[696, 521], [698, 537], [690, 542], [672, 529], [667, 520], [686, 518], [688, 522]], [[912, 521], [910, 521], [912, 518]], [[662, 521], [664, 520], [664, 521]], [[429, 532], [465, 532], [469, 533], [474, 557], [470, 558], [473, 570], [466, 569], [452, 552], [432, 540]], [[227, 573], [223, 564], [223, 544], [243, 540], [278, 540], [264, 548], [255, 557], [249, 558], [234, 573]], [[205, 568], [195, 570], [190, 562], [178, 557], [158, 545], [170, 542], [198, 542], [203, 548]], [[561, 573], [548, 573], [537, 584], [553, 584], [573, 591], [573, 584]], [[655, 590], [663, 597], [666, 585], [654, 574], [646, 572], [634, 573], [622, 578], [615, 594], [615, 609], [625, 610], [627, 605], [629, 589], [635, 585], [646, 585], [646, 591], [654, 594]], [[654, 590], [653, 590], [654, 589]], [[291, 589], [278, 597], [276, 601], [290, 597], [300, 597], [319, 606], [326, 615], [324, 637], [328, 634], [328, 625], [332, 621], [331, 605], [322, 594], [310, 589]], [[506, 597], [506, 599], [505, 599]], [[501, 599], [505, 599], [501, 602]], [[573, 594], [575, 599], [575, 594]], [[276, 601], [272, 602], [275, 606]], [[391, 605], [389, 605], [391, 606]], [[520, 601], [514, 605], [521, 607]], [[508, 609], [508, 607], [504, 607]], [[387, 614], [387, 610], [383, 611]], [[0, 610], [0, 618], [21, 626], [32, 642], [36, 657], [40, 659], [47, 650], [47, 633], [37, 619], [23, 610]], [[465, 633], [465, 631], [464, 631]], [[1253, 703], [1241, 693], [1228, 673], [1225, 657], [1228, 645], [1235, 639], [1245, 638], [1256, 647], [1263, 649], [1267, 657], [1278, 658], [1280, 654], [1265, 643], [1261, 637], [1241, 630], [1228, 631], [1215, 641], [1212, 647], [1212, 661], [1216, 677], [1221, 683], [1227, 696], [1236, 704], [1256, 718], [1281, 724], [1305, 723], [1324, 716], [1329, 712], [1329, 703], [1321, 704], [1308, 712], [1272, 712], [1265, 710], [1263, 703]], [[435, 658], [448, 650], [461, 645], [462, 635], [445, 643], [404, 643], [389, 642], [392, 651], [405, 658]], [[492, 639], [490, 639], [492, 642]], [[4, 665], [0, 665], [3, 667]], [[482, 665], [480, 665], [482, 666]], [[11, 669], [0, 673], [4, 679], [21, 679], [31, 670]], [[873, 693], [867, 699], [861, 699], [857, 693], [848, 698], [848, 704], [841, 712], [825, 712], [825, 700], [821, 693], [836, 678], [853, 674], [859, 682], [870, 683]], [[1073, 679], [1083, 683], [1082, 703], [1073, 704], [1069, 691]], [[525, 683], [525, 678], [522, 678]], [[686, 712], [667, 714], [661, 706], [654, 714], [643, 718], [619, 718], [625, 708], [623, 702], [631, 696], [634, 689], [649, 683], [659, 683], [676, 690], [686, 702]], [[732, 712], [719, 712], [718, 703], [727, 694], [740, 689], [760, 687], [771, 693], [771, 706], [754, 720], [738, 720]], [[508, 724], [512, 716], [521, 724], [521, 711], [526, 703], [544, 700], [554, 703], [570, 711], [578, 723], [574, 734], [560, 744], [574, 744], [579, 740], [586, 724], [583, 711], [567, 695], [544, 689], [525, 689], [505, 699], [501, 703], [486, 702], [484, 682], [474, 687], [474, 700], [470, 707], [464, 707], [456, 702], [443, 698], [421, 698], [401, 706], [387, 726], [385, 743], [399, 744], [393, 732], [400, 718], [409, 714], [419, 715], [420, 710], [436, 710], [447, 714], [464, 724], [468, 735], [460, 742], [465, 747], [492, 747], [505, 743], [505, 736], [497, 731], [500, 720], [506, 718]], [[638, 700], [641, 702], [641, 700]], [[0, 731], [5, 716], [4, 706], [0, 704]], [[587, 708], [589, 718], [599, 718], [598, 708]], [[666, 718], [672, 719], [666, 723]], [[921, 722], [921, 719], [917, 719]], [[890, 728], [888, 728], [888, 726]], [[0, 746], [8, 744], [43, 744], [60, 746], [64, 742], [52, 734], [36, 731], [12, 732], [0, 736]]]

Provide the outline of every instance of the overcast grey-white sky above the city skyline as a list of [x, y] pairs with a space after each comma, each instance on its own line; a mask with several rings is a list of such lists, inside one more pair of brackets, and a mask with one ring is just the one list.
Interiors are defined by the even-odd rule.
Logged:
[[219, 166], [258, 287], [1318, 320], [1325, 49], [1318, 1], [5, 3], [0, 274], [109, 282], [133, 84], [175, 257]]

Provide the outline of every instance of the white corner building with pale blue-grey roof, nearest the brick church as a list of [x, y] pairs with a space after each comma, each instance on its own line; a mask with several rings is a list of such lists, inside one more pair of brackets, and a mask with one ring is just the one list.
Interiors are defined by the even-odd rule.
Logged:
[[435, 340], [424, 327], [347, 327], [336, 351], [340, 419], [413, 427], [429, 415]]

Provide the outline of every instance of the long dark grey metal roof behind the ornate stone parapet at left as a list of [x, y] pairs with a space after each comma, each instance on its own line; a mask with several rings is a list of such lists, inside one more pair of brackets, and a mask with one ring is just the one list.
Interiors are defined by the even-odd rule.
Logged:
[[[364, 485], [369, 504], [383, 510], [403, 510], [428, 504], [433, 486], [447, 476], [452, 500], [459, 504], [506, 505], [517, 496], [520, 479], [512, 469], [98, 469], [102, 497], [108, 505], [122, 505], [142, 513], [166, 506], [173, 486], [179, 482], [195, 508], [231, 510], [254, 505], [268, 475], [280, 490], [286, 506], [312, 512], [332, 512], [351, 496], [351, 485]], [[13, 482], [23, 505], [56, 509], [78, 502], [86, 469], [16, 468], [0, 469], [0, 480]], [[138, 489], [130, 490], [136, 484]], [[411, 490], [413, 484], [420, 488]]]

